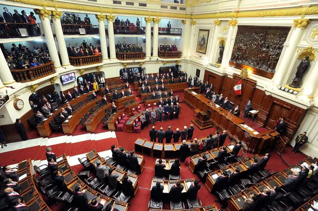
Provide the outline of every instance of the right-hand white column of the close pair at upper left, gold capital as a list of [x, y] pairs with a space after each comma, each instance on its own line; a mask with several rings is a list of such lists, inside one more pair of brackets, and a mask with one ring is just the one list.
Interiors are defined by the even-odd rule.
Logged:
[[62, 25], [61, 25], [61, 16], [62, 16], [61, 11], [52, 10], [51, 19], [53, 21], [53, 25], [54, 25], [54, 29], [55, 29], [55, 36], [56, 36], [56, 40], [57, 40], [58, 46], [59, 46], [60, 57], [62, 60], [62, 66], [69, 66], [71, 64], [70, 64], [70, 60], [69, 60], [68, 51], [66, 49], [63, 29], [62, 29]]

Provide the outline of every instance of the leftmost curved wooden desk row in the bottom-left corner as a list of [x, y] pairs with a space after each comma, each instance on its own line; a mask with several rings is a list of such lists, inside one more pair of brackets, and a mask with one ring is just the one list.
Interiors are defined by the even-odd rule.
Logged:
[[37, 190], [34, 182], [35, 172], [31, 159], [21, 161], [18, 164], [20, 195], [23, 197], [23, 204], [28, 206], [30, 211], [51, 211], [44, 202], [41, 192]]

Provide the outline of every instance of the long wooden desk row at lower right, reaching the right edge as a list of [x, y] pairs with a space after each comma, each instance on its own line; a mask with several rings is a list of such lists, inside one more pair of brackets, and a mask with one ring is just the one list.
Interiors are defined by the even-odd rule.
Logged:
[[274, 188], [274, 186], [281, 187], [284, 185], [285, 179], [288, 177], [288, 175], [293, 173], [291, 169], [301, 168], [301, 164], [307, 163], [310, 165], [312, 162], [315, 162], [315, 160], [311, 157], [307, 157], [306, 159], [298, 162], [296, 165], [290, 166], [289, 168], [284, 169], [280, 171], [279, 173], [276, 173], [275, 175], [265, 179], [264, 181], [244, 189], [239, 194], [235, 194], [231, 196], [231, 198], [229, 199], [229, 205], [227, 209], [229, 211], [239, 211], [244, 205], [243, 196], [246, 198], [249, 198], [250, 194], [257, 195], [258, 193], [262, 192], [264, 188], [267, 188], [267, 187]]

